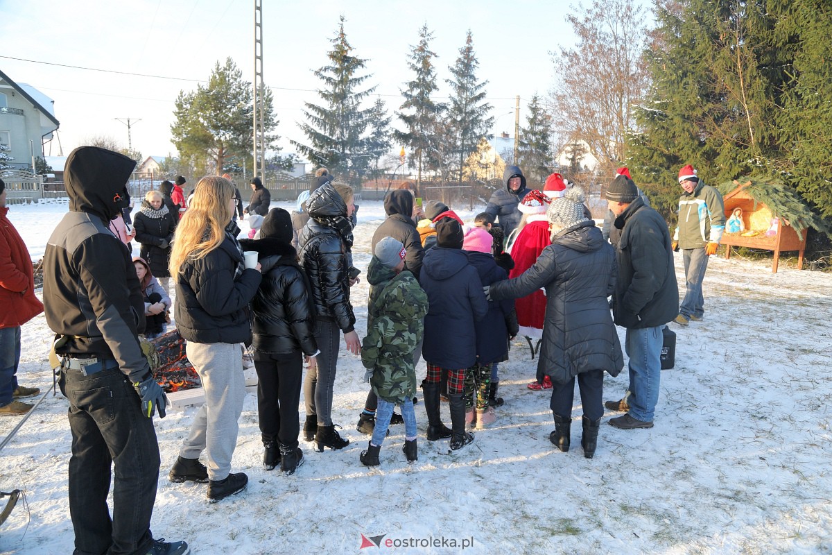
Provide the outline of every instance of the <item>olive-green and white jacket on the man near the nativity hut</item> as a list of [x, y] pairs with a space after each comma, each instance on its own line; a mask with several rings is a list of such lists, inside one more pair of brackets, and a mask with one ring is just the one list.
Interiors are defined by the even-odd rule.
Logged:
[[719, 243], [726, 229], [726, 210], [720, 191], [699, 180], [692, 193], [679, 198], [679, 224], [673, 240], [680, 249], [702, 249], [708, 243]]

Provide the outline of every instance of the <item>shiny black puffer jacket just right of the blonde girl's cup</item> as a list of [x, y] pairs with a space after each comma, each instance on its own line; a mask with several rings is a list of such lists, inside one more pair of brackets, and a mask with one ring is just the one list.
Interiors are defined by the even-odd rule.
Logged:
[[315, 354], [314, 308], [295, 249], [274, 237], [243, 239], [240, 246], [260, 253], [263, 272], [260, 288], [251, 301], [254, 348], [270, 354], [290, 354], [299, 349], [307, 355]]

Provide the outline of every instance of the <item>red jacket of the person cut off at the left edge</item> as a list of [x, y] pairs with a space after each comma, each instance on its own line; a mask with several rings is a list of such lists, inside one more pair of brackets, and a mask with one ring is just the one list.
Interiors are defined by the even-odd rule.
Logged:
[[20, 234], [0, 208], [0, 328], [16, 328], [43, 312], [35, 296], [32, 259]]

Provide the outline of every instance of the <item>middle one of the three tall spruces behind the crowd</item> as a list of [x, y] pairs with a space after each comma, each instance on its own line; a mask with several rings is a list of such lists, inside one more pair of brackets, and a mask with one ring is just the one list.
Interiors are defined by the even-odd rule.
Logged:
[[437, 55], [430, 49], [432, 40], [433, 33], [428, 31], [428, 24], [425, 23], [419, 29], [418, 44], [411, 47], [408, 55], [408, 67], [414, 72], [414, 78], [406, 83], [407, 89], [402, 91], [404, 102], [401, 111], [396, 112], [407, 131], [394, 131], [396, 140], [409, 146], [409, 158], [418, 167], [420, 180], [423, 168], [439, 169], [438, 141], [444, 141], [444, 137], [439, 137], [437, 132], [444, 106], [431, 98], [438, 88], [433, 64]]

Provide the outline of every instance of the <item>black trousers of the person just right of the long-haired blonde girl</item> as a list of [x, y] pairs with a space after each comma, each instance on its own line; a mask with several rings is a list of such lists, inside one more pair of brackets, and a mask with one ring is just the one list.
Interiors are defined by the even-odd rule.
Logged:
[[257, 413], [263, 443], [280, 440], [298, 446], [298, 406], [303, 380], [303, 354], [268, 354], [255, 351]]

